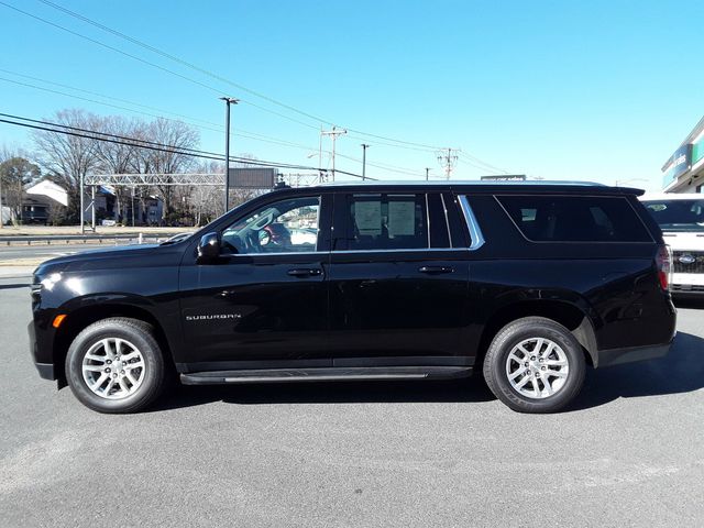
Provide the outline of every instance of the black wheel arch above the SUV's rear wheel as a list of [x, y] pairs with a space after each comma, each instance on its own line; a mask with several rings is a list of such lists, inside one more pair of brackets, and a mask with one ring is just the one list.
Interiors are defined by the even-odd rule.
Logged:
[[598, 366], [596, 333], [590, 316], [573, 302], [554, 299], [530, 299], [504, 305], [490, 316], [480, 338], [476, 364], [481, 365], [498, 331], [524, 317], [544, 317], [565, 327], [582, 345], [586, 363]]

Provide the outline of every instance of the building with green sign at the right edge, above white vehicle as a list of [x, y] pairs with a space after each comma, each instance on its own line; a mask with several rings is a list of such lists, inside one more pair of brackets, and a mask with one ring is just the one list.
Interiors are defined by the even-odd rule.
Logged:
[[704, 193], [704, 118], [662, 166], [666, 193]]

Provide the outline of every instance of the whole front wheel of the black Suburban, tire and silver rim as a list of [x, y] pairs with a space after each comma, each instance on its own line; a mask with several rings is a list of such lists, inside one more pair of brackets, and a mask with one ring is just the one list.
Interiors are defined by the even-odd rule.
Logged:
[[144, 321], [110, 318], [81, 331], [66, 355], [66, 380], [76, 397], [100, 413], [134, 413], [164, 385], [164, 358]]

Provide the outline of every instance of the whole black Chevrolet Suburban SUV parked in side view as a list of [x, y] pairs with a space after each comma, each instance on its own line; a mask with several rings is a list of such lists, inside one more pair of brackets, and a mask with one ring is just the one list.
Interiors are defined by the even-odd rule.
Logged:
[[454, 378], [554, 411], [586, 365], [664, 355], [670, 258], [637, 189], [284, 188], [161, 245], [34, 273], [40, 375], [103, 413], [185, 384]]

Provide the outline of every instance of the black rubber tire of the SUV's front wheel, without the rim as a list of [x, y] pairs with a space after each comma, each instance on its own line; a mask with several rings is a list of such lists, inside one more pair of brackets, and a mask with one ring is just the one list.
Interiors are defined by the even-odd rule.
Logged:
[[[84, 358], [91, 346], [108, 338], [132, 343], [144, 360], [141, 383], [132, 394], [108, 399], [92, 392], [82, 374]], [[74, 339], [66, 354], [66, 380], [78, 400], [98, 413], [135, 413], [147, 407], [164, 386], [164, 356], [151, 324], [139, 319], [113, 317], [94, 322]], [[109, 381], [109, 380], [108, 380]]]

